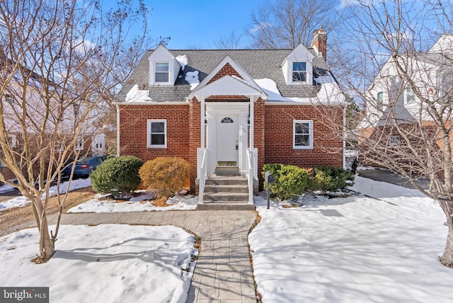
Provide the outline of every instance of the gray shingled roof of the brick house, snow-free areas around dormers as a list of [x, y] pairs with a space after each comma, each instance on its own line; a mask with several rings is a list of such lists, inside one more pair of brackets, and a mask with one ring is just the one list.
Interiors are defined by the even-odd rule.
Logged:
[[[328, 67], [323, 57], [314, 53], [314, 77], [328, 74]], [[151, 86], [149, 87], [149, 60], [148, 57], [154, 50], [147, 50], [134, 69], [126, 83], [122, 86], [117, 95], [118, 101], [125, 101], [125, 97], [134, 84], [138, 84], [139, 89], [149, 89], [149, 96], [152, 101], [185, 101], [190, 91], [190, 84], [185, 81], [185, 73], [199, 71], [200, 81], [212, 72], [226, 55], [229, 55], [237, 62], [252, 79], [273, 79], [277, 84], [282, 96], [287, 98], [315, 97], [319, 90], [319, 85], [299, 86], [287, 85], [282, 72], [282, 62], [292, 50], [169, 50], [173, 57], [185, 55], [188, 64], [184, 70], [180, 69], [176, 84], [174, 86]]]

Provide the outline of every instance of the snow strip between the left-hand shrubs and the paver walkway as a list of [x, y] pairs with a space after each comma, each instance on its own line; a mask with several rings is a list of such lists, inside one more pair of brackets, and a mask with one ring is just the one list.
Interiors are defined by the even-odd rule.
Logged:
[[152, 191], [139, 190], [140, 195], [130, 200], [116, 202], [108, 200], [103, 195], [96, 195], [96, 198], [88, 200], [84, 203], [76, 205], [67, 212], [152, 212], [152, 211], [167, 211], [167, 210], [196, 210], [198, 197], [193, 195], [181, 195], [173, 198], [168, 198], [166, 204], [168, 206], [154, 206], [151, 200], [154, 199]]

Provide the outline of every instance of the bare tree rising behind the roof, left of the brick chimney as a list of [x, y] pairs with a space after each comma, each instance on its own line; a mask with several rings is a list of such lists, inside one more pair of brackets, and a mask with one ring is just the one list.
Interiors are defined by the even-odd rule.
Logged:
[[294, 48], [309, 45], [313, 30], [322, 25], [332, 30], [338, 24], [338, 1], [273, 0], [266, 1], [251, 16], [248, 35], [256, 48]]

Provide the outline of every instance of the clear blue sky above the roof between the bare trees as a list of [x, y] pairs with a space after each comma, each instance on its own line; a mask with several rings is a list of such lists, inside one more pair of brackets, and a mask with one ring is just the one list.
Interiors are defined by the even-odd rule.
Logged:
[[[214, 48], [214, 40], [250, 28], [250, 16], [263, 0], [145, 0], [151, 9], [150, 38], [171, 37], [170, 49]], [[246, 35], [241, 47], [250, 42]]]

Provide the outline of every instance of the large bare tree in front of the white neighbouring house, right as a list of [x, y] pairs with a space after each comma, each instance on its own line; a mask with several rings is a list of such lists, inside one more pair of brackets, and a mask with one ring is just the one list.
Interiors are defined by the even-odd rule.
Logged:
[[[440, 261], [452, 267], [452, 4], [345, 3], [351, 18], [344, 35], [350, 44], [336, 52], [343, 57], [338, 80], [365, 105], [357, 138], [360, 157], [391, 169], [437, 200], [448, 227]], [[420, 178], [429, 179], [429, 188], [420, 186]]]

